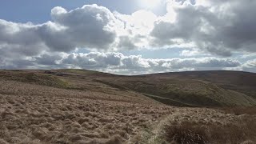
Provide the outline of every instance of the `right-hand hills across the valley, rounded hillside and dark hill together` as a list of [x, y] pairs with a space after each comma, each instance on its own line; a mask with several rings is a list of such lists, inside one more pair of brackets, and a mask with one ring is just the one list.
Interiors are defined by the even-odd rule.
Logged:
[[[103, 78], [174, 106], [255, 106], [256, 74], [198, 71]], [[253, 81], [253, 82], [251, 82]]]

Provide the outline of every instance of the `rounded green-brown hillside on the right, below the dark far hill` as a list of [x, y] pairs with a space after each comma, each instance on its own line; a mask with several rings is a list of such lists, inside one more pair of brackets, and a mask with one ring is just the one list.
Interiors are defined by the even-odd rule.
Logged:
[[254, 98], [212, 82], [187, 78], [102, 78], [172, 106], [256, 106]]

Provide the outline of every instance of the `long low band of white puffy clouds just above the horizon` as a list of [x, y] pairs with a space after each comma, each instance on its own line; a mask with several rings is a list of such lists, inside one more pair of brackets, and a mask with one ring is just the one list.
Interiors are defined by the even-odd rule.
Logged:
[[[12, 61], [9, 61], [11, 63]], [[142, 58], [141, 55], [125, 56], [121, 53], [90, 52], [88, 54], [42, 54], [23, 60], [20, 66], [41, 66], [41, 68], [82, 68], [90, 70], [131, 71], [137, 73], [180, 71], [180, 70], [221, 70], [234, 68], [241, 63], [234, 58]], [[5, 64], [7, 66], [7, 63]], [[12, 66], [12, 65], [10, 65]]]

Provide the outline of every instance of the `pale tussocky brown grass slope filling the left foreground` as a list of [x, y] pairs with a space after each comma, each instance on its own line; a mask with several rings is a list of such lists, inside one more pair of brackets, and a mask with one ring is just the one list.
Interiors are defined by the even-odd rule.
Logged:
[[0, 81], [0, 142], [121, 143], [170, 114], [171, 107], [119, 94]]

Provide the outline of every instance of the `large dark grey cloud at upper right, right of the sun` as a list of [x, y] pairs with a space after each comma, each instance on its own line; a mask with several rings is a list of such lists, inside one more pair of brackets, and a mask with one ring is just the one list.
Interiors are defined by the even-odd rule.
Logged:
[[[210, 6], [174, 6], [174, 22], [158, 21], [151, 35], [158, 46], [168, 46], [180, 38], [212, 54], [230, 56], [244, 50], [256, 52], [255, 1], [208, 1]], [[177, 43], [177, 42], [176, 42]]]

